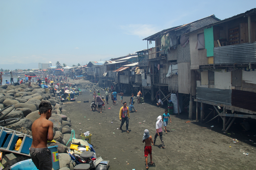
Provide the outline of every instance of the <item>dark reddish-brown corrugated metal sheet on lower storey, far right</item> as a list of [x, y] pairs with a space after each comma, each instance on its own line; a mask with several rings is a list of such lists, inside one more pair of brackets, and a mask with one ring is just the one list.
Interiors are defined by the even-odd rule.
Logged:
[[256, 112], [256, 93], [232, 89], [231, 105]]

